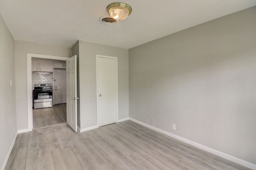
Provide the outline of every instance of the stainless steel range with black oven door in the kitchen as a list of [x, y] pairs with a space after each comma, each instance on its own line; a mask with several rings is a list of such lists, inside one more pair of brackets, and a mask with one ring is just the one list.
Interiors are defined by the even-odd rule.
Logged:
[[52, 107], [52, 84], [34, 84], [34, 109]]

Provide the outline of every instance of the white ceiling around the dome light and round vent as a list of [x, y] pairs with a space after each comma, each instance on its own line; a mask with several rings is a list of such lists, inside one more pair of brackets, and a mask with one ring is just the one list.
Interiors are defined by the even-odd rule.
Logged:
[[123, 0], [126, 20], [108, 26], [106, 6], [115, 0], [0, 0], [0, 14], [15, 40], [72, 47], [83, 40], [132, 48], [256, 5], [256, 0]]

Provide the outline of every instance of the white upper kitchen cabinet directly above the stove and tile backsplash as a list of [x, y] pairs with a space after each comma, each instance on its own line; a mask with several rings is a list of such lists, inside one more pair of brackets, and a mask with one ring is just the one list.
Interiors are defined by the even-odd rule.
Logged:
[[32, 71], [52, 72], [52, 61], [32, 60]]

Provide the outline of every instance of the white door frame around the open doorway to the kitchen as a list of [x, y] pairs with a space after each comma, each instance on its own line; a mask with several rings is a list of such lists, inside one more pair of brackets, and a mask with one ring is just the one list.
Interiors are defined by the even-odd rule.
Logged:
[[42, 54], [27, 53], [27, 94], [28, 94], [28, 131], [33, 130], [33, 111], [32, 111], [32, 57], [47, 58], [53, 60], [64, 60], [69, 57], [49, 56]]

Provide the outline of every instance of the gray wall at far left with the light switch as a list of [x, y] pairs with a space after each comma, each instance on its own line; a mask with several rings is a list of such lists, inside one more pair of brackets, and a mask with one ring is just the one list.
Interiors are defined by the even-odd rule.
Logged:
[[[0, 15], [0, 169], [17, 133], [14, 38]], [[10, 86], [12, 80], [12, 86]]]

